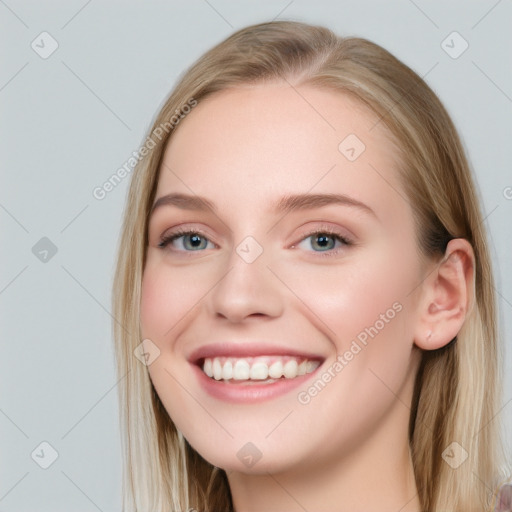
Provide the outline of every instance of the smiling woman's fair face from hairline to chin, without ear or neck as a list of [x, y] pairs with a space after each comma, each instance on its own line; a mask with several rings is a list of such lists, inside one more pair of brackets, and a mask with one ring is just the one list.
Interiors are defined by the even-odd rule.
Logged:
[[376, 123], [340, 93], [275, 83], [207, 98], [168, 143], [141, 335], [163, 405], [216, 466], [325, 465], [408, 421], [423, 269]]

